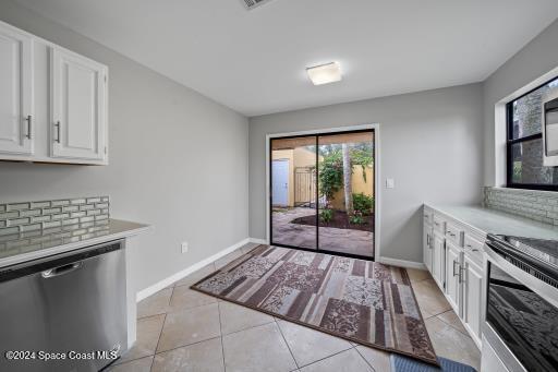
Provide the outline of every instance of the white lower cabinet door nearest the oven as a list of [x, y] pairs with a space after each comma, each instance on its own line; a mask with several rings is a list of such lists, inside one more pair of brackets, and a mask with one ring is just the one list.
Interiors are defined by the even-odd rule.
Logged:
[[463, 271], [463, 323], [477, 345], [482, 337], [483, 313], [483, 269], [470, 257], [465, 256]]

